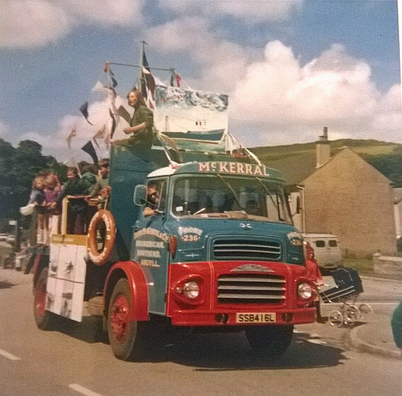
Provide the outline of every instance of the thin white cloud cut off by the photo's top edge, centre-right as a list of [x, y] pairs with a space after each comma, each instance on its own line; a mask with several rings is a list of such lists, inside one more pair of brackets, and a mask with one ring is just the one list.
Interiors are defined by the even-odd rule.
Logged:
[[177, 15], [227, 15], [249, 23], [288, 19], [303, 0], [161, 0], [160, 4]]

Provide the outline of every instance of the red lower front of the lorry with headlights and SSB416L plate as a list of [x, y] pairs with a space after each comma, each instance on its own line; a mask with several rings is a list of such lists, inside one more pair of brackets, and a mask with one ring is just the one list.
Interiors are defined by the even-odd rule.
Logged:
[[[314, 284], [306, 279], [304, 266], [288, 265], [277, 262], [257, 262], [260, 271], [240, 272], [244, 262], [219, 261], [173, 264], [169, 267], [168, 293], [166, 315], [170, 317], [172, 325], [177, 326], [244, 326], [244, 325], [290, 325], [301, 323], [313, 323], [316, 309], [311, 308], [315, 294], [308, 300], [301, 300], [297, 294], [297, 288], [301, 282]], [[240, 268], [241, 269], [241, 268]], [[267, 269], [264, 271], [264, 269]], [[257, 282], [266, 277], [267, 283], [272, 282], [277, 300], [261, 303], [249, 298], [235, 296], [223, 296], [227, 288], [229, 293], [242, 293], [243, 284], [250, 284], [248, 278]], [[229, 279], [229, 283], [227, 283]], [[231, 280], [242, 281], [231, 289]], [[279, 286], [282, 291], [276, 291]], [[183, 288], [188, 282], [196, 282], [200, 293], [197, 298], [187, 298]], [[222, 282], [225, 286], [222, 288]], [[282, 282], [282, 283], [281, 283]], [[257, 290], [261, 286], [257, 286]], [[255, 288], [255, 286], [254, 286]], [[253, 291], [247, 291], [253, 293]], [[264, 297], [264, 296], [262, 296]], [[228, 298], [228, 299], [227, 299]], [[261, 296], [259, 296], [261, 298]]]

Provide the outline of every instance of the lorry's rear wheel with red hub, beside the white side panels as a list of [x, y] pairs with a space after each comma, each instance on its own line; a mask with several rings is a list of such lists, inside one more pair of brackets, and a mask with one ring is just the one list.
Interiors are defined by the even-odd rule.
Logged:
[[51, 330], [54, 327], [53, 313], [46, 311], [46, 282], [48, 280], [48, 267], [42, 269], [36, 282], [33, 294], [33, 317], [41, 330]]

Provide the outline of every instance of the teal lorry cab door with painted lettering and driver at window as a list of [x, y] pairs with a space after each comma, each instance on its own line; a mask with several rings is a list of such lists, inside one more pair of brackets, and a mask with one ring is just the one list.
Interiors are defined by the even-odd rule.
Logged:
[[149, 293], [149, 311], [165, 313], [168, 283], [168, 242], [165, 231], [167, 179], [153, 179], [147, 184], [147, 203], [135, 223], [133, 259], [145, 273]]

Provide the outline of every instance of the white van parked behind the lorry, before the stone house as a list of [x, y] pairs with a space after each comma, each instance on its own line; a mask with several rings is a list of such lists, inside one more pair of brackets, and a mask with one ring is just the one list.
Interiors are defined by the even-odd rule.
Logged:
[[339, 238], [331, 234], [302, 234], [304, 241], [309, 242], [321, 273], [342, 266], [341, 246]]

